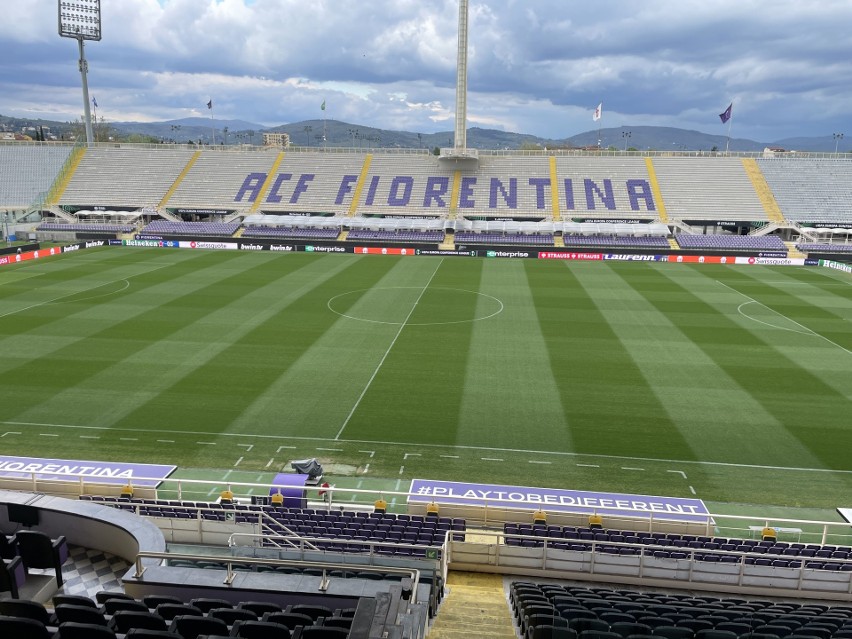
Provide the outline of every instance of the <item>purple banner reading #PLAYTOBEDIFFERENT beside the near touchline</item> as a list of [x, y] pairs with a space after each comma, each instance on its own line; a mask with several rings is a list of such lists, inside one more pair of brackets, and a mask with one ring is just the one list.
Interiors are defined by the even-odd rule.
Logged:
[[594, 493], [559, 488], [530, 488], [467, 484], [432, 479], [414, 479], [409, 503], [467, 504], [551, 512], [598, 513], [624, 517], [651, 517], [677, 521], [706, 522], [704, 502], [687, 497], [651, 497], [623, 493]]

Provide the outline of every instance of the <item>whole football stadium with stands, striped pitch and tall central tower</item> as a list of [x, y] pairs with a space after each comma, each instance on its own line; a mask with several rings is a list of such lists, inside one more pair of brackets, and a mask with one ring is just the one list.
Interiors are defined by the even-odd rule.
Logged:
[[0, 143], [4, 637], [852, 638], [852, 157]]

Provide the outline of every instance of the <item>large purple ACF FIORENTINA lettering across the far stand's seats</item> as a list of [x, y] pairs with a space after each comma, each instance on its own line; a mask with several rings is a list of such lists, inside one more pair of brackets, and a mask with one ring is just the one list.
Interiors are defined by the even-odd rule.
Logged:
[[[270, 204], [298, 204], [316, 180], [313, 173], [295, 175], [279, 173], [269, 187], [263, 201]], [[235, 202], [255, 202], [263, 191], [268, 174], [249, 173], [243, 180]], [[334, 202], [328, 206], [347, 205], [352, 201], [357, 175], [344, 175], [337, 185]], [[575, 184], [576, 182], [576, 184]], [[565, 178], [557, 184], [559, 206], [562, 210], [618, 211], [629, 207], [630, 211], [656, 211], [654, 195], [648, 180], [637, 178], [614, 181], [610, 178], [594, 180]], [[410, 175], [371, 176], [364, 184], [362, 201], [364, 206], [406, 207], [420, 205], [423, 208], [449, 208], [452, 180], [449, 176], [426, 178]], [[532, 201], [537, 210], [548, 210], [552, 203], [549, 177], [530, 177], [526, 181], [516, 177], [464, 176], [459, 182], [458, 208], [516, 210], [523, 200]], [[583, 206], [585, 205], [585, 206]]]

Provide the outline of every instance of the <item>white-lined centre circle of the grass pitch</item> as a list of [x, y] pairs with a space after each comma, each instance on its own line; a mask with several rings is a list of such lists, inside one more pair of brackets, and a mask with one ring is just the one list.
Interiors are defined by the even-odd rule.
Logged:
[[[472, 295], [482, 298], [474, 302], [474, 311], [477, 314], [472, 317], [463, 317], [465, 311], [470, 309], [470, 296]], [[412, 310], [415, 305], [425, 311], [432, 307], [432, 314], [441, 317], [441, 319], [431, 322], [408, 321], [408, 318], [413, 315]], [[347, 319], [394, 326], [401, 324], [407, 326], [464, 324], [486, 320], [503, 311], [503, 302], [493, 295], [442, 286], [434, 286], [425, 290], [422, 286], [385, 286], [356, 289], [335, 295], [328, 300], [326, 306], [332, 313]], [[343, 307], [346, 307], [345, 310]]]

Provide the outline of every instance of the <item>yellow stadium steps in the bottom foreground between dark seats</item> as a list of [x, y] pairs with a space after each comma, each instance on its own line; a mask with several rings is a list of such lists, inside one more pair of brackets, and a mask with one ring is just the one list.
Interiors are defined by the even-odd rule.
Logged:
[[450, 572], [430, 639], [517, 639], [500, 575]]

